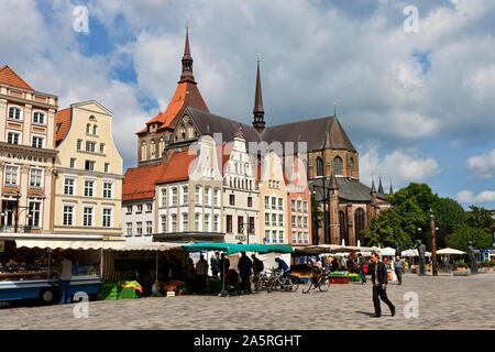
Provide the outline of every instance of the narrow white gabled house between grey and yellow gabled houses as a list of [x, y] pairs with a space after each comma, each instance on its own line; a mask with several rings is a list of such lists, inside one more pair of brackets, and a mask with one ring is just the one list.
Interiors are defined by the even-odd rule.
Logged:
[[242, 128], [233, 142], [220, 148], [223, 158], [223, 219], [226, 242], [260, 243], [260, 193], [256, 184], [256, 161], [246, 150]]

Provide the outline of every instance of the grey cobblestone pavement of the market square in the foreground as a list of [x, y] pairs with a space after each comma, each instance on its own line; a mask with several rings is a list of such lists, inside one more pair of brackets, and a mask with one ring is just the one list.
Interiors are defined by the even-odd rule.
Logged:
[[[404, 294], [419, 295], [419, 317], [406, 318]], [[0, 329], [495, 329], [495, 273], [466, 277], [404, 275], [389, 284], [397, 309], [382, 302], [373, 314], [372, 287], [332, 285], [327, 293], [257, 293], [249, 296], [179, 296], [89, 302], [89, 318], [76, 319], [75, 305], [3, 307]], [[215, 319], [215, 323], [212, 319]], [[377, 323], [380, 322], [380, 323]]]

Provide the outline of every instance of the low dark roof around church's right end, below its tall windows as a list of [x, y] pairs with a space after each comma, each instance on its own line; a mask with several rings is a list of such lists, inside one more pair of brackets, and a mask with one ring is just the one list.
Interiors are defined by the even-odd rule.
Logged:
[[[366, 185], [360, 183], [355, 178], [348, 178], [348, 177], [336, 177], [337, 186], [339, 189], [339, 198], [342, 200], [348, 201], [363, 201], [363, 202], [371, 202], [372, 196], [371, 196], [371, 188]], [[326, 186], [329, 187], [329, 180], [327, 179]], [[309, 180], [309, 187], [312, 185], [322, 186], [323, 180], [321, 178], [310, 179]], [[383, 194], [376, 194], [376, 197], [386, 200], [385, 195]], [[317, 201], [321, 201], [322, 197], [319, 191], [316, 193], [316, 199]]]

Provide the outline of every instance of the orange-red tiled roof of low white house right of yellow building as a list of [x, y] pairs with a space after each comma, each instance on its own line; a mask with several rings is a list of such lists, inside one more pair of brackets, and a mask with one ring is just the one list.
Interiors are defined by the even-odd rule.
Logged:
[[162, 176], [166, 164], [128, 168], [122, 185], [122, 200], [152, 198], [155, 183]]

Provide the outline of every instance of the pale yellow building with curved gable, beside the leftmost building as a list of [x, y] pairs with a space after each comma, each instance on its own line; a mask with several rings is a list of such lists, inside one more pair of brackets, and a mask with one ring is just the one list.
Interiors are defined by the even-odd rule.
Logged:
[[97, 101], [56, 114], [54, 232], [120, 239], [122, 157], [112, 113]]

